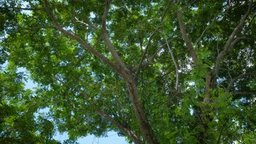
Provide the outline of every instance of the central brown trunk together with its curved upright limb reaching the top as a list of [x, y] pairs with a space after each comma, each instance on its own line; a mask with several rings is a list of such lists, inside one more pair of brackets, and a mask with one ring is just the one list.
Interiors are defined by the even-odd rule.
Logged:
[[[134, 81], [134, 77], [132, 76], [131, 71], [126, 67], [124, 62], [119, 57], [117, 51], [114, 50], [114, 47], [109, 40], [107, 30], [106, 30], [106, 19], [107, 19], [109, 7], [110, 7], [110, 1], [106, 0], [106, 8], [104, 10], [104, 14], [102, 17], [102, 33], [104, 36], [104, 40], [105, 40], [105, 42], [108, 46], [108, 49], [109, 49], [110, 53], [112, 54], [113, 58], [118, 63], [119, 67], [122, 69], [121, 73], [119, 73], [119, 74], [123, 77], [123, 79], [126, 82], [126, 85], [127, 85], [130, 97], [131, 97], [133, 110], [135, 111], [135, 116], [138, 120], [139, 128], [144, 136], [144, 139], [147, 141], [147, 143], [158, 143], [158, 141], [156, 140], [156, 137], [153, 133], [153, 130], [147, 120], [147, 117], [143, 110], [143, 107], [139, 101], [138, 90], [137, 90], [137, 87], [135, 84], [136, 82]], [[150, 38], [153, 37], [155, 32], [150, 36]], [[150, 40], [149, 40], [149, 43], [150, 43]], [[149, 43], [147, 45], [147, 49], [149, 47]], [[139, 64], [138, 69], [139, 69], [140, 65], [141, 65], [141, 63]], [[137, 69], [137, 71], [138, 71], [138, 69]]]

